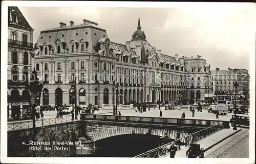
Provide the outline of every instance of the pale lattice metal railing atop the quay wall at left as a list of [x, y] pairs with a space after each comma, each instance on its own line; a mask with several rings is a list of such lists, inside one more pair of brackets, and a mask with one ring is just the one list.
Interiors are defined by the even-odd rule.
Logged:
[[[63, 116], [63, 118], [46, 118], [46, 119], [38, 119], [35, 120], [35, 127], [48, 126], [53, 124], [60, 124], [63, 122], [72, 121], [72, 116]], [[9, 122], [7, 124], [8, 131], [9, 130], [20, 130], [20, 129], [28, 129], [33, 128], [33, 121], [17, 121], [17, 122]]]

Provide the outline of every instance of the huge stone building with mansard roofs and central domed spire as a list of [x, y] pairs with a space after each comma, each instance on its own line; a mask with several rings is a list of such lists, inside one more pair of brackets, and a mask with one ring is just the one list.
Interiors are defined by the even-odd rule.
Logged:
[[74, 77], [77, 105], [203, 99], [210, 90], [206, 60], [161, 54], [147, 42], [140, 19], [126, 44], [111, 42], [106, 30], [84, 19], [41, 31], [35, 48], [35, 67], [45, 83], [43, 105], [73, 104]]

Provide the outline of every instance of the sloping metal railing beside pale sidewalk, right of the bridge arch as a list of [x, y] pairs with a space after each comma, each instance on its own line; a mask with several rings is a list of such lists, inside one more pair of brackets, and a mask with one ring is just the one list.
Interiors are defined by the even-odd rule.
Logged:
[[202, 138], [205, 138], [206, 136], [215, 133], [219, 130], [224, 129], [224, 122], [220, 122], [217, 125], [202, 129], [200, 131], [197, 131], [195, 133], [189, 134], [185, 137], [185, 146], [189, 146], [190, 144], [196, 144], [196, 142]]

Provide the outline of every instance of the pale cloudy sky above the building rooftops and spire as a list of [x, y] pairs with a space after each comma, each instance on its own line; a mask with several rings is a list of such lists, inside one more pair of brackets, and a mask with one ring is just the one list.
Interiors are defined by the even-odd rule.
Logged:
[[[75, 25], [86, 18], [106, 29], [112, 42], [125, 43], [137, 30], [138, 18], [147, 42], [163, 54], [201, 55], [211, 69], [249, 69], [255, 50], [255, 24], [251, 4], [210, 4], [172, 8], [19, 7], [34, 31], [34, 44], [42, 30]], [[254, 54], [255, 55], [255, 54]]]

